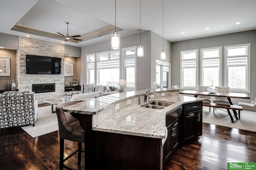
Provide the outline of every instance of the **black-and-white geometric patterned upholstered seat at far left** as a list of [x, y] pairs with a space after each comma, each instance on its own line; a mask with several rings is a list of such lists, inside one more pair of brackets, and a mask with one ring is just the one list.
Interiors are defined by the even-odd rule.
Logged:
[[34, 92], [0, 94], [0, 129], [36, 123], [38, 102]]

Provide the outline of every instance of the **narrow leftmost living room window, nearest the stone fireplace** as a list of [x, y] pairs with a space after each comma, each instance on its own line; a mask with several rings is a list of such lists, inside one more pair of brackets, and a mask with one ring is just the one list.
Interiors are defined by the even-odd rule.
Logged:
[[86, 55], [86, 62], [87, 62], [87, 84], [94, 84], [95, 81], [95, 54]]

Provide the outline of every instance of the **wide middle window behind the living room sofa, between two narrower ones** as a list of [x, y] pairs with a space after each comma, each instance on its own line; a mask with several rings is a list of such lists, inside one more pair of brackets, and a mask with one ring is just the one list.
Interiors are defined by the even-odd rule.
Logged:
[[119, 82], [119, 51], [97, 53], [97, 85], [118, 87]]

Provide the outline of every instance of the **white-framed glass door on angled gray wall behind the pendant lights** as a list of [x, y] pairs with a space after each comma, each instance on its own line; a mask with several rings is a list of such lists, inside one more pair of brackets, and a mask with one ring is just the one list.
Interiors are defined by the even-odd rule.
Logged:
[[156, 88], [170, 88], [170, 63], [156, 60]]

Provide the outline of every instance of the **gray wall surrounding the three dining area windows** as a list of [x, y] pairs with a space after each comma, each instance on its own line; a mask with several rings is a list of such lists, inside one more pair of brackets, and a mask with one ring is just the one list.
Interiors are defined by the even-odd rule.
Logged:
[[[208, 47], [222, 46], [222, 66], [224, 66], [224, 46], [251, 43], [251, 63], [256, 63], [256, 31], [243, 31], [238, 33], [230, 33], [212, 37], [204, 37], [198, 39], [190, 39], [185, 41], [177, 41], [172, 43], [172, 85], [180, 85], [180, 51], [189, 49], [200, 49]], [[200, 53], [199, 53], [200, 57]], [[251, 92], [248, 94], [250, 100], [243, 99], [242, 102], [251, 102], [256, 97], [256, 78], [254, 73], [256, 67], [251, 64]], [[222, 70], [224, 75], [224, 69]], [[200, 73], [199, 73], [200, 78]], [[200, 79], [199, 79], [200, 80]], [[222, 86], [224, 86], [224, 76], [222, 78]], [[241, 100], [234, 99], [234, 104]]]

